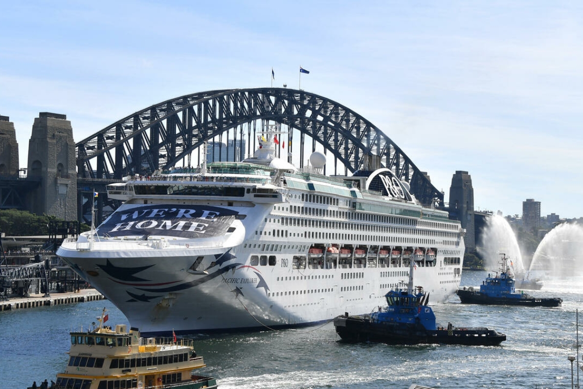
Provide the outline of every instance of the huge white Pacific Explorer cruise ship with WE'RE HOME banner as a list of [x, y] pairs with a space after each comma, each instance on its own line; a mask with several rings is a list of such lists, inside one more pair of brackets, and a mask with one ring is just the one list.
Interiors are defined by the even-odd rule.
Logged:
[[406, 282], [432, 303], [459, 286], [459, 222], [424, 207], [387, 168], [325, 176], [276, 156], [276, 135], [242, 162], [110, 184], [123, 204], [57, 254], [146, 334], [324, 323], [370, 313]]

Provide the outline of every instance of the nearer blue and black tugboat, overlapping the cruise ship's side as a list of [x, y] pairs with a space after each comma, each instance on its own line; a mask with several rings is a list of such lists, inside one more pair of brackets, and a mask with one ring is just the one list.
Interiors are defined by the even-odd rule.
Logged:
[[[413, 261], [411, 261], [413, 262]], [[429, 293], [417, 286], [413, 290], [413, 265], [409, 268], [407, 289], [395, 289], [385, 295], [388, 306], [368, 315], [334, 319], [336, 333], [346, 342], [383, 342], [391, 345], [452, 344], [496, 346], [506, 335], [489, 328], [447, 327], [436, 324]]]

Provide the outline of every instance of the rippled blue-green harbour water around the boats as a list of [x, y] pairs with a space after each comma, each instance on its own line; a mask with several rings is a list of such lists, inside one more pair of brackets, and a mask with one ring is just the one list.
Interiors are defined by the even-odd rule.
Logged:
[[[465, 271], [462, 285], [476, 286], [486, 272]], [[559, 308], [433, 306], [438, 322], [505, 332], [498, 347], [343, 344], [332, 323], [284, 331], [200, 335], [202, 374], [221, 389], [245, 388], [570, 388], [576, 355], [575, 310], [583, 307], [581, 282], [545, 285], [532, 292], [563, 298]], [[575, 289], [576, 288], [576, 289]], [[71, 330], [87, 330], [107, 307], [107, 324], [127, 324], [107, 300], [0, 313], [2, 388], [26, 388], [55, 379], [68, 362]], [[374, 307], [371, 307], [371, 310]], [[581, 317], [583, 321], [583, 315]], [[577, 366], [574, 366], [577, 385]], [[581, 381], [583, 381], [583, 372]]]

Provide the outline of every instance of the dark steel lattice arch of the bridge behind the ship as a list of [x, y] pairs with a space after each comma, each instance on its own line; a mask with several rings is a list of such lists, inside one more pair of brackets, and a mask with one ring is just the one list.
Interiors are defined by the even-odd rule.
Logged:
[[[128, 174], [151, 174], [183, 161], [205, 141], [233, 129], [240, 139], [247, 128], [269, 121], [290, 128], [288, 151], [312, 138], [312, 150], [320, 143], [332, 153], [335, 164], [350, 171], [388, 167], [410, 184], [411, 191], [424, 205], [443, 205], [443, 194], [387, 135], [370, 121], [336, 101], [304, 90], [251, 88], [210, 90], [187, 94], [147, 107], [109, 125], [76, 143], [77, 168], [81, 180], [117, 181]], [[292, 139], [296, 131], [300, 142]], [[297, 132], [296, 132], [297, 134]], [[252, 153], [252, 150], [248, 150]], [[199, 154], [200, 155], [200, 154]], [[243, 150], [241, 150], [241, 159]], [[300, 164], [304, 150], [300, 147]]]

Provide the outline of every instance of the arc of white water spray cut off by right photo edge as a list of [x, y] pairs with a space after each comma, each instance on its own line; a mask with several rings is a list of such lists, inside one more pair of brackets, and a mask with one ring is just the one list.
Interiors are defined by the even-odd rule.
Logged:
[[529, 272], [553, 281], [583, 276], [583, 226], [563, 223], [550, 230], [532, 257]]

